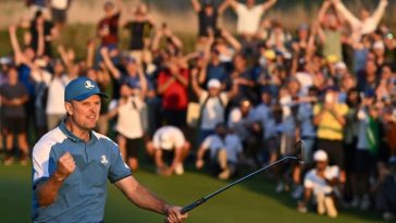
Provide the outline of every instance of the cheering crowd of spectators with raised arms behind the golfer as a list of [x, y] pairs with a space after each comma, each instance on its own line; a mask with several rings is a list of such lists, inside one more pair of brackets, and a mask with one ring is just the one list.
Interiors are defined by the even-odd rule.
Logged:
[[[394, 24], [381, 22], [387, 0], [359, 15], [324, 0], [317, 17], [293, 30], [263, 17], [276, 0], [191, 0], [194, 52], [146, 3], [107, 1], [84, 60], [53, 44], [71, 4], [27, 1], [33, 17], [9, 27], [13, 51], [0, 61], [5, 165], [14, 147], [27, 164], [29, 139], [57, 127], [66, 84], [86, 75], [111, 96], [97, 131], [115, 132], [132, 170], [146, 151], [158, 174], [182, 175], [184, 163], [228, 179], [242, 166], [294, 156], [304, 139], [305, 166], [290, 162], [268, 174], [277, 193], [290, 191], [301, 212], [314, 197], [318, 213], [331, 218], [337, 207], [395, 218], [396, 40]], [[235, 34], [219, 25], [226, 10], [236, 14]], [[120, 28], [129, 33], [127, 49], [119, 47]]]

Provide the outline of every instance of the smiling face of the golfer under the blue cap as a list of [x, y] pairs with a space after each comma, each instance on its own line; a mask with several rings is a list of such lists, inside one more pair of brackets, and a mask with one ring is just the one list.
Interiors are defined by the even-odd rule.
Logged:
[[101, 99], [98, 95], [89, 98], [66, 102], [66, 111], [73, 123], [83, 131], [90, 131], [96, 126], [99, 119]]

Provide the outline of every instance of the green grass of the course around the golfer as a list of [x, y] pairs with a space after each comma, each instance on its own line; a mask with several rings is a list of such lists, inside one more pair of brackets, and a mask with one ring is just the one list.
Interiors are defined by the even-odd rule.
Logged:
[[[186, 205], [226, 184], [191, 170], [187, 170], [183, 176], [160, 177], [152, 173], [152, 166], [144, 166], [144, 170], [138, 171], [135, 176], [160, 197], [178, 205]], [[273, 188], [273, 184], [257, 176], [191, 211], [186, 222], [382, 222], [378, 215], [367, 212], [342, 211], [336, 220], [319, 216], [312, 211], [301, 214], [295, 210], [295, 202], [288, 195], [276, 195]], [[30, 168], [16, 164], [0, 166], [1, 222], [29, 222], [30, 198]], [[110, 184], [104, 215], [104, 222], [163, 221], [161, 215], [131, 205], [117, 188]]]

